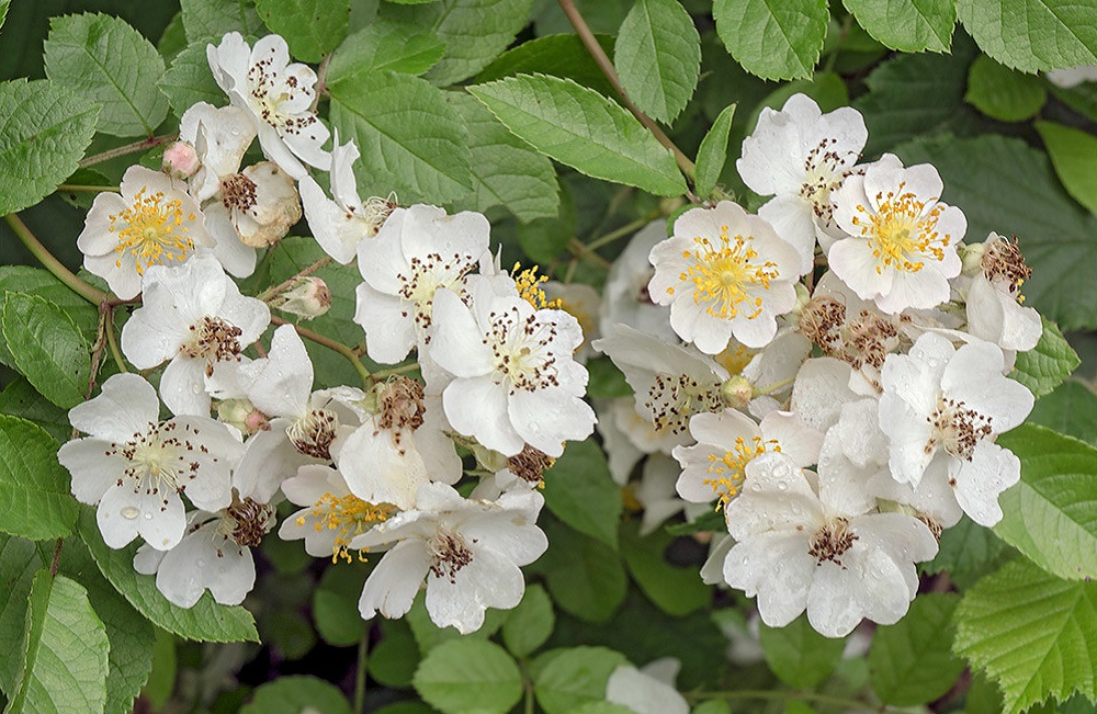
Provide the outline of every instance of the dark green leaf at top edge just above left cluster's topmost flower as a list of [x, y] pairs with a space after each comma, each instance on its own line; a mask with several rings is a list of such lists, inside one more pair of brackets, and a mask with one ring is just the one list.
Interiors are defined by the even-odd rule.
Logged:
[[350, 0], [256, 0], [259, 16], [282, 35], [290, 54], [318, 63], [347, 36]]

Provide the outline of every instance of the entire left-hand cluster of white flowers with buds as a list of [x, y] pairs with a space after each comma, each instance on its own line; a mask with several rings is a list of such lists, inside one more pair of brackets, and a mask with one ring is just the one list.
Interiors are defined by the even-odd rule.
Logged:
[[[206, 590], [241, 602], [251, 548], [276, 529], [336, 563], [385, 552], [364, 619], [403, 615], [426, 582], [439, 626], [476, 630], [486, 608], [521, 600], [519, 568], [547, 547], [541, 475], [593, 430], [579, 321], [535, 272], [499, 269], [483, 215], [362, 201], [359, 149], [317, 117], [317, 76], [281, 37], [250, 47], [230, 33], [207, 56], [229, 104], [191, 106], [163, 170], [132, 167], [80, 236], [88, 270], [118, 297], [140, 296], [123, 354], [162, 372], [159, 396], [116, 374], [72, 409], [86, 434], [60, 451], [72, 492], [97, 506], [108, 545], [144, 541], [135, 568], [179, 605]], [[241, 168], [257, 138], [265, 160]], [[314, 317], [331, 304], [327, 286], [299, 275], [259, 299], [233, 279], [302, 215], [341, 270], [357, 261], [369, 356], [396, 364], [414, 351], [415, 362], [365, 388], [314, 390], [297, 330], [271, 307]], [[480, 483], [459, 492], [468, 452]], [[279, 524], [283, 500], [297, 509]]]

